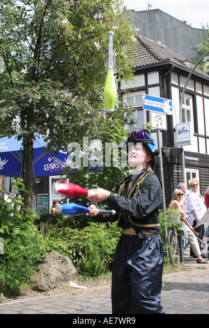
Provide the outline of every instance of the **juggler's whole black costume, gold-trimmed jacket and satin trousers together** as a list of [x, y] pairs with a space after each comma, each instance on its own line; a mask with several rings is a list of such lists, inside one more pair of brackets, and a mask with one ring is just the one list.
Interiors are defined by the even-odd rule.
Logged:
[[[127, 186], [132, 188], [127, 193]], [[123, 179], [107, 203], [115, 216], [100, 214], [98, 222], [116, 221], [123, 228], [134, 228], [137, 235], [122, 234], [114, 255], [112, 311], [114, 314], [164, 313], [160, 306], [163, 247], [158, 207], [162, 203], [158, 177], [142, 170]], [[142, 234], [141, 230], [153, 232]]]

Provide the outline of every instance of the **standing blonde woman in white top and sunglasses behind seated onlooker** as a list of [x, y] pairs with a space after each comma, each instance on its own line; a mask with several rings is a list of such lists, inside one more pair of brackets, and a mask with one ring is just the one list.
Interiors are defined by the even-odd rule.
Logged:
[[189, 213], [188, 221], [191, 225], [194, 225], [194, 221], [199, 223], [207, 210], [204, 199], [199, 194], [198, 186], [199, 181], [196, 178], [189, 180], [191, 191], [187, 198], [187, 212]]

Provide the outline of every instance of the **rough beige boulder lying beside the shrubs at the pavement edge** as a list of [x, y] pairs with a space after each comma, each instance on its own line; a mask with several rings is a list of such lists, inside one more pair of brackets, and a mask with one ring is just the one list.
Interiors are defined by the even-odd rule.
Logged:
[[73, 281], [76, 269], [68, 256], [57, 251], [47, 253], [38, 264], [38, 271], [31, 276], [33, 289], [46, 292]]

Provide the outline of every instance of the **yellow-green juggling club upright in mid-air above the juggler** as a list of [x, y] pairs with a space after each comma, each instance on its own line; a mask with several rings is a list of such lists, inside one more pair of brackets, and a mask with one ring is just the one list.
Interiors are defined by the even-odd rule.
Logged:
[[107, 78], [104, 85], [104, 104], [106, 112], [114, 112], [114, 108], [117, 100], [116, 81], [114, 78], [113, 67], [113, 36], [114, 32], [109, 31], [109, 66], [107, 72]]

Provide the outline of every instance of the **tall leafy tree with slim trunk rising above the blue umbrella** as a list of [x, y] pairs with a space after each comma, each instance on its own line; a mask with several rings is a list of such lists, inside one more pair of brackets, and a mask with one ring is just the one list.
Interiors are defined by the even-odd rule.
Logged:
[[[106, 130], [102, 92], [109, 30], [115, 33], [116, 78], [130, 79], [132, 30], [121, 0], [0, 0], [0, 134], [23, 137], [27, 208], [36, 133], [50, 148], [66, 151], [69, 142], [102, 137]], [[111, 139], [120, 142], [127, 121], [120, 99], [110, 116]]]

